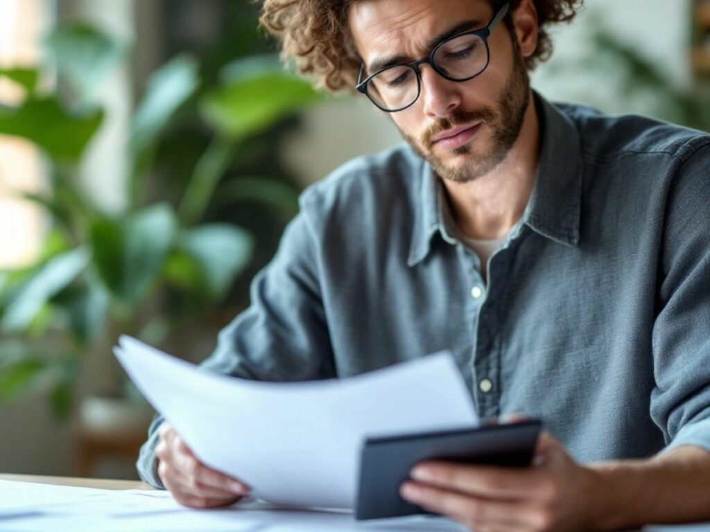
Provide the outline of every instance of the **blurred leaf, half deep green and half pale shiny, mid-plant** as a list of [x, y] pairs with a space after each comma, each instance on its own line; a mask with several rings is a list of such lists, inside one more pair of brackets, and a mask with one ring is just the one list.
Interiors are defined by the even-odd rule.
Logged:
[[94, 223], [91, 240], [99, 278], [121, 301], [136, 304], [163, 269], [177, 226], [175, 214], [166, 204], [121, 221]]

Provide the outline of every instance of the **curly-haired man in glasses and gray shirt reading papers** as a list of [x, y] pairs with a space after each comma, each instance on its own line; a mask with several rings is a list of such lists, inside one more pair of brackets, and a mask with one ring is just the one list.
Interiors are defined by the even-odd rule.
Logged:
[[[527, 470], [432, 462], [403, 484], [478, 531], [710, 519], [710, 136], [532, 92], [578, 4], [264, 6], [301, 72], [356, 85], [408, 146], [303, 194], [206, 365], [320, 379], [451, 349], [481, 416], [549, 431]], [[161, 424], [144, 479], [188, 506], [248, 492]]]

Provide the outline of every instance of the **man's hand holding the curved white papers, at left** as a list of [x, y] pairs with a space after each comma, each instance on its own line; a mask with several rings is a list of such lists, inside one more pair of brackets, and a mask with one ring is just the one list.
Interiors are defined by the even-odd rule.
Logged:
[[155, 447], [158, 477], [184, 506], [214, 508], [229, 506], [249, 494], [249, 487], [232, 477], [209, 469], [195, 458], [182, 438], [165, 423]]

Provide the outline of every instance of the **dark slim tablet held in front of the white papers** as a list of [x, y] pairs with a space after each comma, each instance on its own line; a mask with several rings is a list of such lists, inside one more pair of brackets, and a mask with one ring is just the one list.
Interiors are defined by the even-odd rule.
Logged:
[[535, 453], [537, 420], [457, 431], [368, 438], [361, 452], [356, 519], [425, 514], [400, 497], [401, 484], [422, 460], [526, 467]]

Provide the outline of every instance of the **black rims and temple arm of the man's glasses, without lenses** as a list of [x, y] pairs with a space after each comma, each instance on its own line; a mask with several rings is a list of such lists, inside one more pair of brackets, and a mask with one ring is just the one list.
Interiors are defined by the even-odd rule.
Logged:
[[[364, 79], [361, 81], [362, 78], [362, 72], [365, 70], [365, 65], [364, 63], [360, 65], [359, 72], [357, 74], [357, 84], [355, 88], [357, 89], [358, 92], [361, 92], [365, 96], [370, 99], [370, 101], [375, 104], [378, 109], [381, 109], [382, 111], [385, 111], [386, 113], [397, 113], [398, 111], [404, 111], [405, 109], [408, 109], [409, 107], [413, 106], [414, 104], [417, 103], [417, 100], [419, 99], [419, 96], [422, 94], [422, 76], [419, 72], [419, 66], [420, 65], [430, 65], [434, 71], [439, 74], [439, 76], [443, 77], [444, 79], [448, 79], [450, 82], [456, 82], [456, 83], [462, 83], [462, 82], [467, 82], [471, 79], [474, 79], [474, 77], [479, 77], [481, 74], [486, 72], [486, 68], [488, 68], [488, 65], [491, 63], [491, 49], [488, 48], [488, 37], [491, 36], [491, 33], [493, 33], [493, 30], [496, 29], [496, 26], [498, 26], [498, 23], [500, 23], [503, 20], [503, 17], [505, 17], [508, 14], [508, 10], [510, 9], [510, 1], [507, 1], [505, 4], [501, 6], [500, 9], [498, 9], [498, 12], [493, 15], [493, 18], [491, 18], [491, 21], [488, 22], [485, 28], [480, 28], [477, 30], [471, 30], [471, 31], [464, 31], [463, 33], [457, 33], [457, 35], [452, 35], [451, 37], [448, 37], [444, 40], [442, 40], [441, 43], [437, 44], [432, 51], [427, 55], [427, 57], [422, 57], [420, 60], [416, 60], [410, 63], [401, 63], [399, 65], [391, 65], [389, 67], [385, 67], [381, 70], [378, 70], [371, 76], [368, 76], [367, 79]], [[453, 77], [447, 76], [447, 74], [441, 70], [436, 62], [434, 61], [434, 56], [436, 55], [437, 51], [439, 48], [441, 48], [443, 45], [448, 43], [451, 40], [457, 39], [459, 37], [463, 37], [464, 35], [477, 35], [481, 40], [484, 42], [486, 45], [486, 65], [474, 74], [473, 76], [466, 77], [464, 79], [456, 79]], [[385, 72], [385, 70], [390, 70], [391, 68], [395, 67], [409, 67], [410, 69], [414, 70], [415, 76], [417, 77], [417, 96], [415, 96], [415, 99], [412, 101], [411, 104], [408, 104], [404, 107], [400, 107], [399, 109], [385, 109], [383, 106], [377, 103], [375, 99], [370, 95], [370, 93], [367, 90], [367, 85], [373, 79], [373, 77], [378, 76], [382, 72]]]

